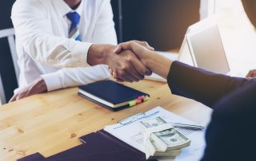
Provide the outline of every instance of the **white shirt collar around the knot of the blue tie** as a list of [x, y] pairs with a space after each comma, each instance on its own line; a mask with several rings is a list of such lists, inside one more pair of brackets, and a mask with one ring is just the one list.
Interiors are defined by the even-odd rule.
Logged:
[[77, 12], [80, 17], [82, 15], [82, 9], [83, 9], [84, 0], [81, 1], [80, 5], [76, 10], [72, 10], [70, 6], [66, 4], [63, 0], [54, 0], [54, 6], [59, 10], [59, 12], [62, 14], [62, 16], [66, 16], [66, 14], [70, 12]]

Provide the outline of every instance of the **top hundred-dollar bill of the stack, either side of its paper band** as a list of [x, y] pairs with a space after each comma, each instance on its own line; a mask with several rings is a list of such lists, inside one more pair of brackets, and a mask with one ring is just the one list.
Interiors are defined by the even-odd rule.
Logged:
[[[160, 116], [139, 122], [140, 127], [144, 131], [146, 128], [154, 128], [161, 124], [168, 123]], [[150, 138], [153, 139], [163, 151], [166, 151], [167, 149], [178, 150], [190, 145], [190, 139], [187, 138], [186, 135], [183, 135], [182, 132], [179, 132], [176, 128], [170, 128], [162, 132], [153, 132], [152, 135], [150, 135]]]

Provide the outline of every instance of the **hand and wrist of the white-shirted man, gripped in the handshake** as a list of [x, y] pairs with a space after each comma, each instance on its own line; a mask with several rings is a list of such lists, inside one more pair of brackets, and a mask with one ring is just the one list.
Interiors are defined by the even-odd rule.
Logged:
[[90, 65], [109, 65], [120, 79], [130, 83], [143, 80], [145, 75], [152, 74], [133, 52], [122, 50], [119, 54], [114, 54], [116, 48], [117, 46], [114, 45], [91, 45], [87, 62]]

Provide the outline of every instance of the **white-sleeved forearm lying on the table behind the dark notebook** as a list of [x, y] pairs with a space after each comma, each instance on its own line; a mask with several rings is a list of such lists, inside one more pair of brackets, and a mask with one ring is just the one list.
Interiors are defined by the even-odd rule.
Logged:
[[86, 68], [60, 69], [55, 73], [42, 75], [48, 92], [59, 88], [74, 87], [102, 81], [110, 78], [107, 65], [96, 65]]

